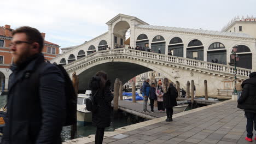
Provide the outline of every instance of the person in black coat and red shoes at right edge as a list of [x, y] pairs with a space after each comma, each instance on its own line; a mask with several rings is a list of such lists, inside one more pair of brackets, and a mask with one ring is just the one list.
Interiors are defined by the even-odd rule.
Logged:
[[[237, 107], [245, 111], [245, 116], [247, 118], [247, 137], [245, 139], [252, 142], [253, 123], [254, 130], [256, 130], [256, 72], [249, 74], [249, 79], [243, 81], [242, 88], [243, 91], [240, 99], [237, 101]], [[256, 140], [256, 136], [254, 137], [254, 140]]]

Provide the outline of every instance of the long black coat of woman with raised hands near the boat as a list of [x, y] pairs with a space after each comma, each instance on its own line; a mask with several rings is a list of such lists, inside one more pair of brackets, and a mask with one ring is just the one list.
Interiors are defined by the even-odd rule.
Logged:
[[[98, 83], [100, 83], [100, 77], [96, 77]], [[92, 81], [90, 82], [90, 87], [97, 87], [92, 86], [95, 85]], [[98, 107], [97, 112], [92, 112], [92, 125], [98, 128], [106, 128], [110, 126], [110, 113], [111, 113], [111, 101], [113, 100], [113, 94], [110, 91], [110, 81], [107, 80], [105, 87], [101, 89], [98, 87], [97, 89], [92, 88], [92, 95], [95, 94], [95, 102], [96, 104], [100, 105]]]

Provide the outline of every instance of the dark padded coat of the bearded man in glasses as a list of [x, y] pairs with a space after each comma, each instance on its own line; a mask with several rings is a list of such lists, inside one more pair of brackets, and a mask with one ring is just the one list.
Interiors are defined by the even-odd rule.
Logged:
[[63, 75], [56, 65], [46, 64], [40, 71], [38, 90], [33, 88], [33, 72], [43, 62], [43, 54], [38, 53], [19, 67], [11, 67], [2, 143], [61, 143], [66, 104]]

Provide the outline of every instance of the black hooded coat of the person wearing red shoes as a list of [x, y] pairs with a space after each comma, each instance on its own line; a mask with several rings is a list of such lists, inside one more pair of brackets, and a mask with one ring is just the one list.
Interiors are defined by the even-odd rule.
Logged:
[[237, 107], [246, 112], [256, 113], [256, 72], [249, 75], [249, 79], [243, 81], [240, 98]]

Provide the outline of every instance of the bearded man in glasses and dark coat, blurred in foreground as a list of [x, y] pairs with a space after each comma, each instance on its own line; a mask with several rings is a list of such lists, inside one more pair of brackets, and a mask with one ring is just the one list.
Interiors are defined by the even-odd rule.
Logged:
[[10, 50], [14, 64], [10, 68], [4, 144], [61, 143], [65, 80], [56, 65], [44, 62], [43, 44], [36, 28], [13, 31]]

